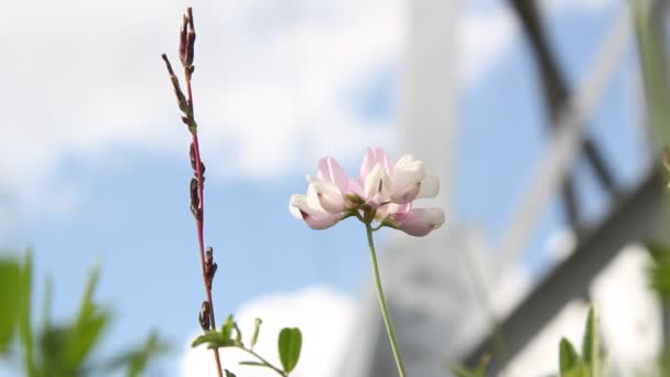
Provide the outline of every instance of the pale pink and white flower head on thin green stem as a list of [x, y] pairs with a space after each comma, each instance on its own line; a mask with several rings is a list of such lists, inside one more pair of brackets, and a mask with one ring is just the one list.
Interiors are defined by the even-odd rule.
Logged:
[[289, 209], [312, 229], [325, 229], [355, 216], [422, 237], [444, 223], [439, 208], [413, 208], [418, 198], [435, 197], [440, 183], [428, 175], [422, 161], [411, 154], [391, 163], [381, 148], [370, 148], [359, 176], [350, 179], [332, 157], [318, 161], [316, 176], [307, 175], [307, 193], [291, 196]]

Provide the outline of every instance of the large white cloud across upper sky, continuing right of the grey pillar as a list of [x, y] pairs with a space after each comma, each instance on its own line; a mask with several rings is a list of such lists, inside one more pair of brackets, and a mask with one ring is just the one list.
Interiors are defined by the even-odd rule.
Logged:
[[[128, 147], [185, 154], [188, 137], [159, 57], [175, 58], [184, 6], [3, 3], [0, 22], [11, 32], [0, 34], [7, 55], [0, 191], [12, 206], [44, 211], [56, 202], [52, 191], [76, 191], [56, 183], [65, 159], [104, 166]], [[324, 153], [350, 160], [368, 144], [389, 144], [392, 120], [367, 118], [357, 103], [379, 72], [398, 67], [408, 7], [407, 0], [198, 2], [194, 90], [209, 172], [279, 176]], [[517, 29], [504, 4], [461, 13], [454, 56], [466, 86], [505, 56]]]

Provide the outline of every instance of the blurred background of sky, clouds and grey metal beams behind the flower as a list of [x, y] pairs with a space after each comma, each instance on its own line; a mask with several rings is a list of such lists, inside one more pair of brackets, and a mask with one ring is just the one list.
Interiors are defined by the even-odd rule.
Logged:
[[[579, 341], [590, 301], [616, 370], [661, 351], [641, 244], [661, 179], [637, 2], [0, 3], [1, 252], [34, 250], [34, 300], [51, 277], [56, 320], [101, 265], [96, 298], [115, 322], [100, 355], [153, 328], [172, 351], [149, 375], [213, 370], [188, 348], [204, 298], [190, 136], [160, 58], [176, 62], [187, 6], [219, 322], [236, 313], [249, 332], [262, 317], [268, 354], [281, 326], [300, 326], [298, 377], [393, 374], [363, 227], [313, 231], [288, 211], [318, 158], [356, 174], [379, 146], [426, 162], [441, 194], [425, 206], [447, 216], [425, 238], [378, 233], [410, 375], [447, 376], [485, 353], [491, 375], [555, 373], [560, 337]], [[668, 7], [645, 3], [666, 37]]]

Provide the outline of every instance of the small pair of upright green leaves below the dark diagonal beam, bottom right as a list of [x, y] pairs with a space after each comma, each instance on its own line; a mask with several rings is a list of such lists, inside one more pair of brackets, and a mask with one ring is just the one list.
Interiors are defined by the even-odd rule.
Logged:
[[599, 338], [597, 317], [593, 308], [588, 310], [586, 325], [582, 340], [582, 355], [566, 338], [559, 345], [559, 370], [561, 377], [602, 377], [602, 357], [599, 354]]

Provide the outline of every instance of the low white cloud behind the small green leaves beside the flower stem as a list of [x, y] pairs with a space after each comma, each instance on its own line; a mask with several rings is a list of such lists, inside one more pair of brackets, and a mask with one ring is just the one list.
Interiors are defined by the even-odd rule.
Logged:
[[[291, 376], [337, 376], [344, 363], [353, 330], [355, 304], [348, 297], [325, 288], [309, 288], [290, 294], [275, 294], [244, 304], [236, 313], [245, 340], [249, 342], [253, 320], [261, 317], [260, 336], [256, 351], [277, 366], [277, 336], [282, 327], [298, 326], [303, 346], [298, 367]], [[239, 366], [252, 359], [242, 352], [221, 349], [221, 363], [230, 371], [245, 377], [275, 376], [263, 368]], [[212, 351], [204, 346], [187, 348], [182, 355], [180, 373], [183, 377], [215, 376]]]

